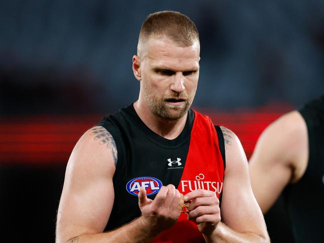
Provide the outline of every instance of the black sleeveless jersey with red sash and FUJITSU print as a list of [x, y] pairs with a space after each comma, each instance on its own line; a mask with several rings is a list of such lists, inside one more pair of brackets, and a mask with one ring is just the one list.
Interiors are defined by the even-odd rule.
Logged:
[[[183, 195], [197, 189], [214, 191], [221, 203], [224, 138], [220, 127], [214, 126], [209, 117], [190, 109], [183, 131], [173, 140], [150, 130], [133, 105], [104, 117], [98, 126], [110, 132], [118, 152], [113, 176], [115, 198], [105, 231], [141, 216], [140, 186], [152, 200], [162, 185], [173, 184]], [[176, 224], [153, 242], [201, 243], [203, 240], [198, 227], [181, 214]]]

